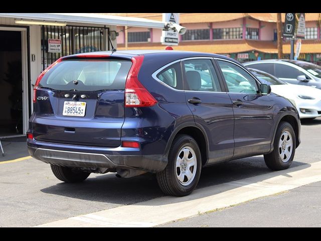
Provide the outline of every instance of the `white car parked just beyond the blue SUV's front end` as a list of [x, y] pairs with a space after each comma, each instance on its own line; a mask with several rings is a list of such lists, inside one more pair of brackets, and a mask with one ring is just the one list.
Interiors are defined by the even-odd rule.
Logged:
[[321, 90], [310, 86], [288, 84], [264, 71], [248, 68], [262, 84], [271, 86], [271, 91], [290, 100], [300, 118], [321, 116]]

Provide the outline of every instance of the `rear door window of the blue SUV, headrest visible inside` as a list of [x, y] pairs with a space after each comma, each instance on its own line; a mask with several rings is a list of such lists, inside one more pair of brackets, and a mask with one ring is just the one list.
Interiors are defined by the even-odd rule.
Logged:
[[217, 73], [210, 59], [184, 61], [186, 90], [221, 92]]

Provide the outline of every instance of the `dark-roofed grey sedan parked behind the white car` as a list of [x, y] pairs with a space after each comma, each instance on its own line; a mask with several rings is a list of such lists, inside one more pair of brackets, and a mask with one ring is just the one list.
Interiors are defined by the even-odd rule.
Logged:
[[259, 69], [290, 84], [321, 89], [321, 66], [299, 60], [269, 59], [244, 63], [247, 68]]

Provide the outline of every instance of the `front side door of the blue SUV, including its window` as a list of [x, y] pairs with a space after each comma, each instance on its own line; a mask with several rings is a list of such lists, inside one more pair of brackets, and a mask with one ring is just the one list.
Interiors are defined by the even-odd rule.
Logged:
[[270, 151], [273, 134], [273, 103], [259, 93], [256, 79], [241, 65], [218, 59], [234, 111], [233, 158]]

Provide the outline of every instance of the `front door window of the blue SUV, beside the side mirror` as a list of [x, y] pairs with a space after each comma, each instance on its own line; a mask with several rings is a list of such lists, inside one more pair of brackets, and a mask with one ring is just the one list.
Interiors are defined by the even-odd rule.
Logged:
[[217, 61], [223, 72], [229, 92], [258, 93], [256, 80], [244, 69], [226, 61]]

